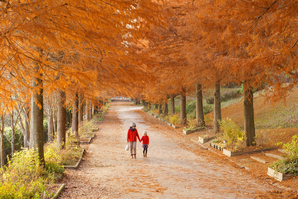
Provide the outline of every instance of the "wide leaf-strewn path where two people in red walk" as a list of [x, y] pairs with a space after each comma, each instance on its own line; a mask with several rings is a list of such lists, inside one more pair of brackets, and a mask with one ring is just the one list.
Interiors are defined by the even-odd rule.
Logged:
[[[66, 171], [67, 188], [59, 198], [254, 198], [269, 189], [239, 169], [184, 149], [167, 136], [177, 130], [140, 108], [112, 103], [79, 169]], [[136, 159], [124, 150], [131, 122], [140, 136], [148, 132], [148, 158], [139, 142]]]

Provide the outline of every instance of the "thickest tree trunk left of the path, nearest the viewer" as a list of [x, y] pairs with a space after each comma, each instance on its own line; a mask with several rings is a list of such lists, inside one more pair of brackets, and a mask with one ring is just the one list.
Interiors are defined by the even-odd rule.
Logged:
[[[30, 119], [30, 144], [29, 149], [38, 151], [39, 160], [44, 162], [44, 100], [43, 82], [40, 78], [32, 79], [31, 119]], [[34, 89], [38, 88], [39, 91]]]

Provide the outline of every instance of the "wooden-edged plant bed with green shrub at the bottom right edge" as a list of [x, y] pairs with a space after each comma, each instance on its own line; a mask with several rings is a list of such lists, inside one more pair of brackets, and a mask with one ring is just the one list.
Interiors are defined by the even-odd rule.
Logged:
[[[280, 145], [282, 143], [277, 143]], [[292, 176], [298, 175], [298, 139], [297, 135], [292, 137], [292, 141], [283, 144], [283, 150], [287, 157], [275, 161], [268, 166], [268, 175], [278, 181], [286, 180]]]

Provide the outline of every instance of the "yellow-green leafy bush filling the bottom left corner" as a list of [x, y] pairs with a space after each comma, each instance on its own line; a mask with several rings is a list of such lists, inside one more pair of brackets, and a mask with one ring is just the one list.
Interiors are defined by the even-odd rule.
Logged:
[[54, 175], [40, 165], [38, 152], [28, 149], [15, 152], [0, 171], [0, 198], [3, 199], [40, 198], [45, 185], [54, 180]]

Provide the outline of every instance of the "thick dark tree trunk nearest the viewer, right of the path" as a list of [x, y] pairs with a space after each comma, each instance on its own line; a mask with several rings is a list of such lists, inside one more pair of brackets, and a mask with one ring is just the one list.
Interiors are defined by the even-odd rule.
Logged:
[[244, 81], [244, 131], [245, 131], [245, 140], [246, 146], [255, 146], [255, 127], [254, 127], [254, 105], [253, 99], [254, 95], [252, 93], [252, 87], [246, 85], [247, 82]]

